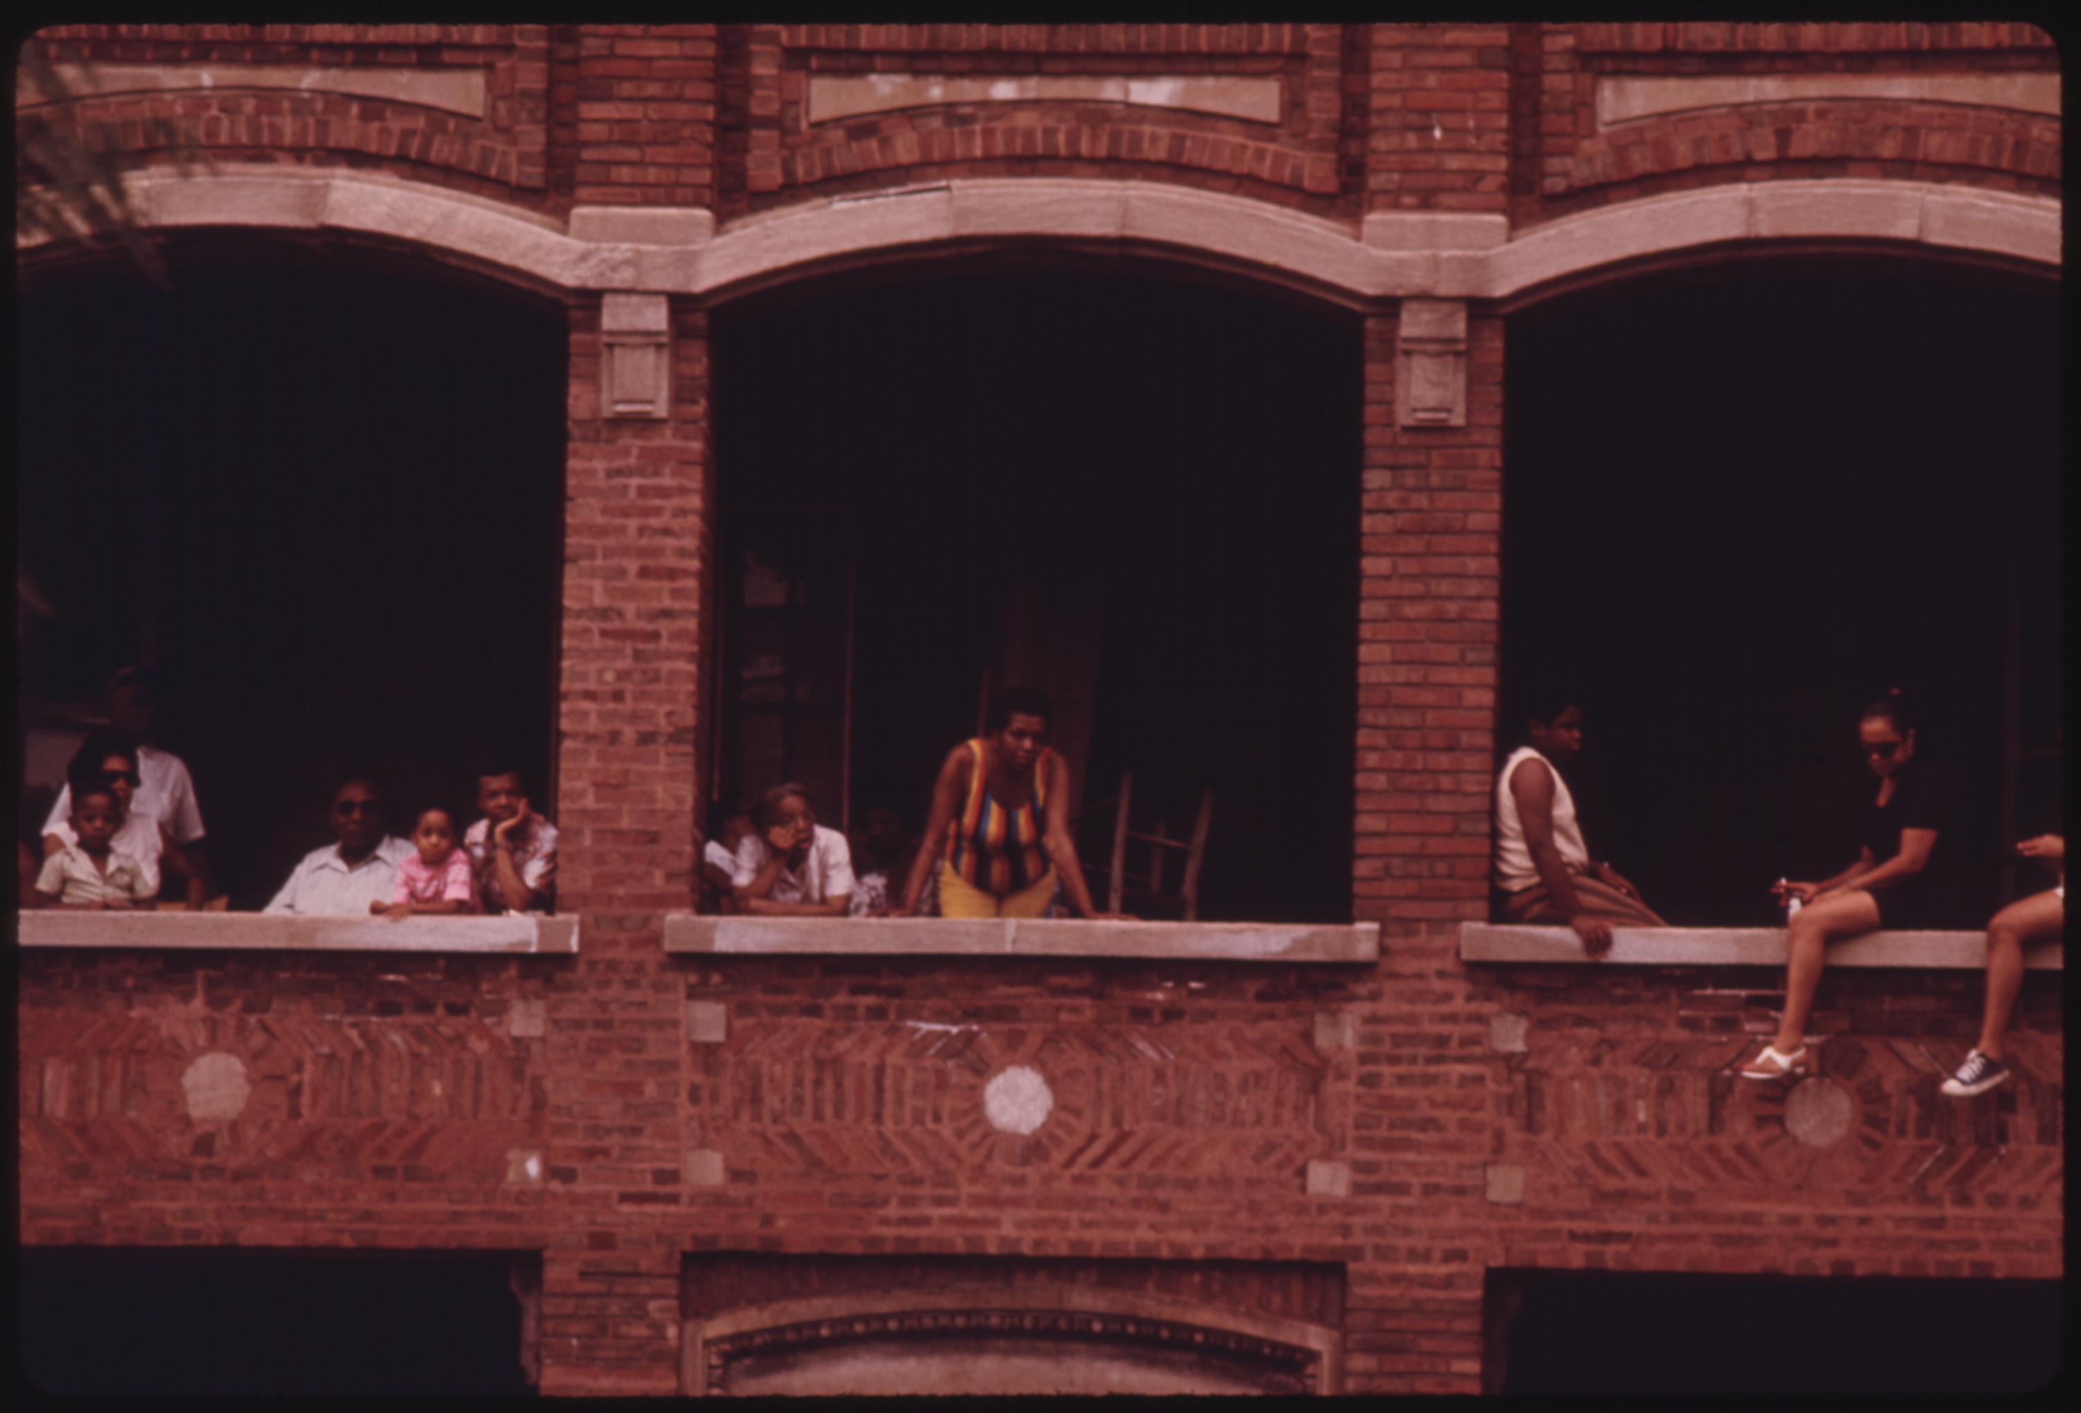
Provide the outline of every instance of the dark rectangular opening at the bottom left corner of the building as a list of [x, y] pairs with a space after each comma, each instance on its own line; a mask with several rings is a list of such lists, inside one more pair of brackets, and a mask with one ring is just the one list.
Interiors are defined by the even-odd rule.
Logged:
[[21, 1251], [46, 1394], [526, 1394], [504, 1251]]

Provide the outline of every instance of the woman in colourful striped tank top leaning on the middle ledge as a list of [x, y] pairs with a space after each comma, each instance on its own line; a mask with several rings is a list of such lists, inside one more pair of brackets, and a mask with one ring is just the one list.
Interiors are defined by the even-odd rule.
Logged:
[[939, 870], [943, 918], [1038, 918], [1061, 880], [1082, 918], [1101, 914], [1070, 841], [1070, 768], [1047, 747], [1053, 703], [1038, 691], [999, 693], [988, 735], [947, 753], [932, 785], [924, 847], [895, 916], [918, 916]]

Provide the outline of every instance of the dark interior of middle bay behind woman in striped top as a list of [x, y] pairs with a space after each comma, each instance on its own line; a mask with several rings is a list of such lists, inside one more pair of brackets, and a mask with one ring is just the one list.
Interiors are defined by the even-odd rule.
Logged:
[[724, 797], [795, 776], [916, 832], [1026, 680], [1080, 803], [1134, 770], [1180, 837], [1213, 789], [1201, 918], [1348, 918], [1355, 320], [947, 260], [720, 310], [714, 368]]

